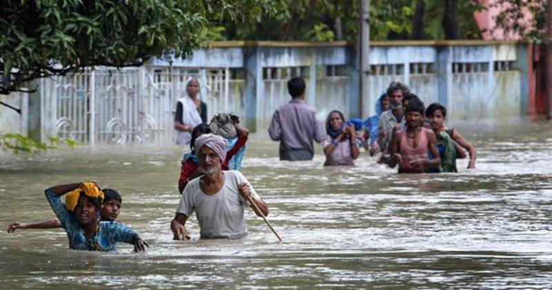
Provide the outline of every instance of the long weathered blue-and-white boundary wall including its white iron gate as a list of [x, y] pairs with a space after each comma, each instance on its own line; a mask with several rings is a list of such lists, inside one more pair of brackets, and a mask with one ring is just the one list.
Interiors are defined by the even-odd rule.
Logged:
[[289, 100], [286, 81], [295, 75], [305, 78], [306, 101], [321, 120], [333, 109], [348, 117], [372, 115], [391, 81], [408, 84], [426, 105], [447, 106], [449, 119], [500, 119], [526, 114], [527, 47], [515, 41], [373, 42], [371, 93], [361, 100], [354, 43], [207, 43], [188, 59], [150, 59], [141, 68], [42, 79], [36, 94], [8, 97], [10, 104], [21, 104], [24, 116], [0, 108], [0, 131], [41, 139], [78, 136], [90, 144], [172, 142], [175, 102], [192, 76], [202, 83], [209, 115], [236, 113], [257, 132], [266, 132], [274, 110]]

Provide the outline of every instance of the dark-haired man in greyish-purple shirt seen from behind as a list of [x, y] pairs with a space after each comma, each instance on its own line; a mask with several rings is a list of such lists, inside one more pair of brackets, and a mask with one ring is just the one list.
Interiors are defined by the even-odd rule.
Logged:
[[316, 119], [315, 108], [305, 104], [305, 81], [293, 77], [288, 81], [291, 101], [279, 107], [272, 117], [268, 134], [279, 141], [280, 160], [313, 160], [313, 139], [322, 142], [322, 126]]

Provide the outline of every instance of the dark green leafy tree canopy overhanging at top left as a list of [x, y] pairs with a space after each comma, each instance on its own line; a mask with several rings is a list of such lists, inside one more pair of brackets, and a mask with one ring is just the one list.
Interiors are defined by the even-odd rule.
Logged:
[[[245, 21], [269, 0], [5, 0], [0, 4], [0, 94], [90, 66], [138, 66], [187, 56], [209, 21]], [[209, 20], [208, 20], [209, 19]]]

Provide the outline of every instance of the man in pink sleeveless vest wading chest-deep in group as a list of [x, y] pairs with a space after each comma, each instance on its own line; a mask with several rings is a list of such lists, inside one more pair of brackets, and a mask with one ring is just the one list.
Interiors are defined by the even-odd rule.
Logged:
[[[406, 107], [406, 128], [395, 131], [389, 151], [388, 165], [399, 165], [399, 173], [424, 173], [427, 168], [439, 168], [441, 165], [437, 138], [433, 131], [423, 128], [424, 106], [420, 101], [411, 101]], [[435, 158], [429, 160], [432, 153]]]

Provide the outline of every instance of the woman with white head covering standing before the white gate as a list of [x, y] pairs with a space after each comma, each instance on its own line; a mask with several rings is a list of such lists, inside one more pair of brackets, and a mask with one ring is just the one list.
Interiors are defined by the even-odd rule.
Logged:
[[195, 126], [207, 122], [207, 105], [199, 99], [199, 81], [190, 78], [186, 81], [186, 96], [177, 101], [175, 130], [177, 144], [188, 146]]

